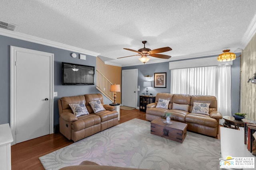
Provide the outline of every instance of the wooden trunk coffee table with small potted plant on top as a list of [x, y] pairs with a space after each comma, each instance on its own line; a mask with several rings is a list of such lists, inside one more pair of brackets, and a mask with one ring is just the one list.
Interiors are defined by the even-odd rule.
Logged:
[[167, 125], [164, 123], [166, 119], [154, 119], [151, 121], [151, 134], [158, 135], [160, 137], [164, 137], [166, 139], [170, 139], [172, 141], [176, 141], [179, 143], [183, 143], [186, 135], [187, 135], [187, 127], [186, 123], [181, 123], [177, 121], [171, 121], [171, 125]]

